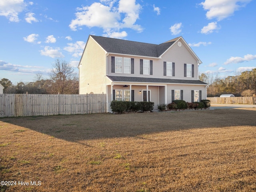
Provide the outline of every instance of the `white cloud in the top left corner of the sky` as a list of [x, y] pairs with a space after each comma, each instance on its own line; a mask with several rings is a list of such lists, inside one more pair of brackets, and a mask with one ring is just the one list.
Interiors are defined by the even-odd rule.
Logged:
[[0, 16], [5, 16], [10, 22], [19, 22], [18, 14], [26, 8], [23, 0], [1, 0]]

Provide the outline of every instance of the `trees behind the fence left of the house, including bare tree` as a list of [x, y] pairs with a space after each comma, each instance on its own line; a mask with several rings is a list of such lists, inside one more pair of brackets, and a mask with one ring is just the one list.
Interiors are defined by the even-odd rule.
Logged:
[[18, 82], [12, 84], [7, 78], [2, 78], [6, 94], [78, 94], [78, 75], [74, 68], [65, 60], [56, 59], [52, 64], [49, 79], [43, 79], [42, 74], [36, 74], [34, 82]]

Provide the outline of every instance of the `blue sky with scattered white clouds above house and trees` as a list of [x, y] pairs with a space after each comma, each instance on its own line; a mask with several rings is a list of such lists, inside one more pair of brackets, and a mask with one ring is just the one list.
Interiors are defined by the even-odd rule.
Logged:
[[1, 0], [0, 79], [48, 78], [55, 59], [76, 72], [90, 34], [161, 44], [182, 36], [200, 73], [256, 68], [256, 0]]

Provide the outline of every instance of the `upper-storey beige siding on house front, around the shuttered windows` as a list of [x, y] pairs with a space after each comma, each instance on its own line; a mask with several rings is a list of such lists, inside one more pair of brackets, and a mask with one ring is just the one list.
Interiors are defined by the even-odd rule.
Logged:
[[[181, 41], [182, 42], [182, 41]], [[112, 73], [111, 72], [111, 56], [134, 58], [134, 74]], [[140, 74], [140, 59], [153, 60], [153, 75]], [[164, 61], [175, 62], [175, 76], [164, 76]], [[184, 63], [194, 64], [194, 78], [184, 77]], [[112, 76], [136, 76], [136, 77], [150, 77], [150, 78], [171, 78], [171, 79], [187, 79], [198, 80], [198, 62], [186, 46], [182, 42], [182, 46], [175, 43], [161, 59], [158, 58], [143, 58], [135, 56], [108, 56], [108, 75]]]

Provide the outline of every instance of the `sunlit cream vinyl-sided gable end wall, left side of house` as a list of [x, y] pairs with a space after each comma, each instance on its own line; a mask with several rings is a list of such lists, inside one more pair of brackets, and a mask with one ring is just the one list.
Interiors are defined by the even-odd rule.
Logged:
[[79, 93], [106, 93], [106, 52], [90, 36], [79, 65]]

